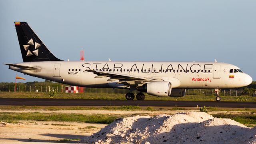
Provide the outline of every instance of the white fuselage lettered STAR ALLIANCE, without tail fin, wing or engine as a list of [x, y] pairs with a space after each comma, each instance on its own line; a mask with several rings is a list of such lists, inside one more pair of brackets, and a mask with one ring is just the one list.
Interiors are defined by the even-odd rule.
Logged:
[[13, 66], [10, 69], [46, 80], [94, 88], [123, 87], [112, 85], [117, 81], [109, 81], [108, 77], [95, 78], [96, 74], [86, 70], [162, 79], [171, 82], [172, 88], [238, 88], [252, 82], [248, 74], [230, 73], [230, 69], [240, 69], [237, 66], [220, 62], [51, 61], [18, 64], [40, 69], [24, 70]]

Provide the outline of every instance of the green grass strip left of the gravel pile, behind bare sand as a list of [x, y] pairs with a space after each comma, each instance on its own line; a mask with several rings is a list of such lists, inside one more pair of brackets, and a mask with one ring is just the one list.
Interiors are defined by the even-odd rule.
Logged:
[[13, 122], [18, 120], [36, 120], [36, 121], [58, 121], [58, 122], [86, 122], [110, 124], [120, 115], [83, 115], [83, 114], [52, 114], [52, 113], [15, 113], [1, 112], [0, 120], [4, 122]]

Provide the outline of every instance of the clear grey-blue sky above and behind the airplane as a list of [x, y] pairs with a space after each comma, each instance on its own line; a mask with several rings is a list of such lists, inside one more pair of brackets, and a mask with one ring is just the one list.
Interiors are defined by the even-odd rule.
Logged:
[[226, 62], [256, 80], [255, 0], [0, 0], [0, 82], [22, 62], [14, 21], [62, 60]]

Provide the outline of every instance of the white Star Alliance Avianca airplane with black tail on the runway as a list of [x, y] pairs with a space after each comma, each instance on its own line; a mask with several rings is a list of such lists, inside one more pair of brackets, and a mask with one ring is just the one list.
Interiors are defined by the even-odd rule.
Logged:
[[14, 22], [22, 63], [9, 69], [46, 80], [90, 88], [128, 89], [127, 100], [152, 96], [185, 96], [186, 89], [221, 89], [248, 86], [252, 78], [222, 62], [63, 61], [56, 58], [26, 22]]

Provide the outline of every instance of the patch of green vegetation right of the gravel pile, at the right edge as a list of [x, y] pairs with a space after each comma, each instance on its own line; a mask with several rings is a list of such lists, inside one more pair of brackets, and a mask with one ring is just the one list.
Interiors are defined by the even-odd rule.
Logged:
[[212, 114], [216, 118], [230, 118], [236, 122], [240, 122], [246, 126], [255, 126], [256, 125], [256, 114], [254, 113], [243, 113], [243, 114]]

